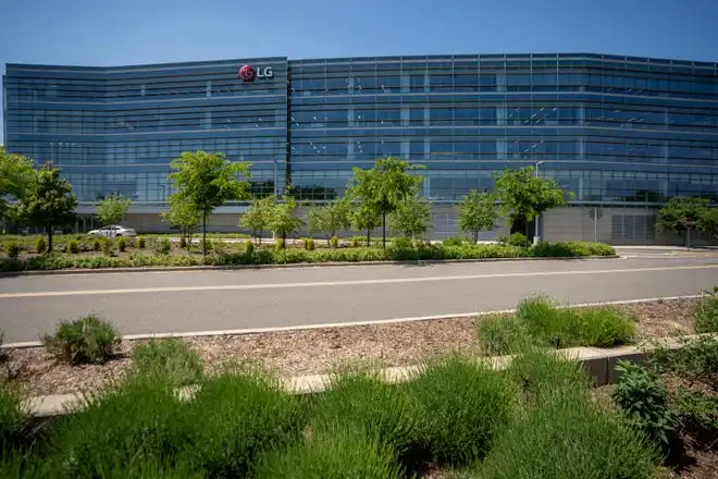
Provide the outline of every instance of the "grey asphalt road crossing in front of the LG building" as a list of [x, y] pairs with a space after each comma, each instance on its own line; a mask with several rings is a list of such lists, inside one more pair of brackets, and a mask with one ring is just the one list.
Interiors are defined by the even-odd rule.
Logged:
[[123, 334], [381, 320], [512, 308], [542, 293], [568, 303], [696, 294], [718, 256], [349, 266], [0, 278], [5, 342], [99, 312]]

